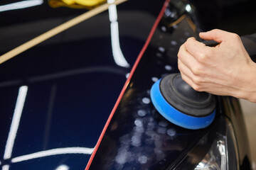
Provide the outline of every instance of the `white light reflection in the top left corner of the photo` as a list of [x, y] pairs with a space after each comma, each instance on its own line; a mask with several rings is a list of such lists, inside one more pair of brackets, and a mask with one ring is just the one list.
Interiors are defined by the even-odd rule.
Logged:
[[43, 4], [43, 0], [19, 1], [19, 2], [0, 6], [0, 12], [10, 11], [10, 10], [14, 10], [14, 9], [28, 8], [28, 7], [32, 7], [32, 6], [38, 6], [41, 4]]

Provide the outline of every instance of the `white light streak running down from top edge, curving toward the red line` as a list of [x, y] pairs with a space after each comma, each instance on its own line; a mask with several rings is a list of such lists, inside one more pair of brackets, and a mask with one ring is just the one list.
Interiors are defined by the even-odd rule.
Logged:
[[[108, 4], [114, 3], [114, 0], [108, 0]], [[114, 62], [121, 67], [129, 67], [129, 63], [125, 60], [119, 44], [119, 28], [117, 22], [117, 6], [112, 4], [109, 6], [110, 29], [111, 29], [111, 45]]]

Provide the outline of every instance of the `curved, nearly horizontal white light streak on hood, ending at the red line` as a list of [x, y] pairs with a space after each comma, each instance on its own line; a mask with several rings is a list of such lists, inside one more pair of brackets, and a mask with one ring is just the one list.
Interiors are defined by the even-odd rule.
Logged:
[[21, 157], [16, 157], [11, 159], [12, 163], [16, 162], [23, 162], [30, 159], [36, 159], [41, 157], [49, 157], [57, 154], [92, 154], [94, 148], [87, 148], [87, 147], [65, 147], [65, 148], [57, 148], [57, 149], [50, 149], [41, 152], [35, 152], [33, 154], [26, 154]]

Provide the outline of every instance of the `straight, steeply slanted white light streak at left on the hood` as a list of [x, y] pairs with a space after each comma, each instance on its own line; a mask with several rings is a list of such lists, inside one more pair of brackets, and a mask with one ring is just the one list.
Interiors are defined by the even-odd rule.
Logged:
[[10, 128], [9, 135], [8, 135], [8, 138], [6, 141], [6, 148], [4, 151], [4, 159], [11, 158], [11, 152], [14, 147], [14, 140], [16, 138], [18, 125], [21, 120], [21, 113], [22, 113], [23, 106], [25, 103], [27, 91], [28, 91], [28, 86], [21, 86], [18, 90], [18, 98], [16, 101], [15, 109], [14, 109], [14, 116], [11, 120], [11, 128]]

